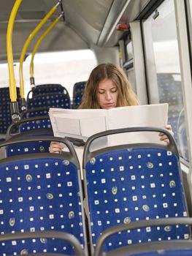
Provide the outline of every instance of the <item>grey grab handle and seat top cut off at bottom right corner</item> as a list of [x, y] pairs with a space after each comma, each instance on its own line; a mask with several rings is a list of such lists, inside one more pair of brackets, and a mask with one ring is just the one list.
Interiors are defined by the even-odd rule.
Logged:
[[180, 256], [180, 255], [191, 255], [192, 254], [192, 240], [169, 240], [169, 241], [159, 241], [156, 242], [146, 242], [140, 244], [130, 244], [128, 246], [119, 247], [111, 251], [110, 253], [103, 252], [103, 245], [110, 236], [115, 233], [121, 233], [124, 230], [134, 230], [140, 229], [141, 227], [156, 227], [157, 229], [161, 226], [169, 227], [169, 225], [192, 225], [191, 218], [166, 218], [166, 219], [152, 219], [133, 222], [130, 224], [116, 225], [115, 227], [110, 227], [99, 237], [99, 241], [96, 244], [96, 250], [94, 256]]

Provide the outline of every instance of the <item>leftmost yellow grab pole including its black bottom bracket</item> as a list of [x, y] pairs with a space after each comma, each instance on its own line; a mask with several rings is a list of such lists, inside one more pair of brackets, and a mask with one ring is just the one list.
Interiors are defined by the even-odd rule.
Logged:
[[12, 8], [12, 12], [9, 17], [9, 23], [7, 26], [7, 63], [9, 69], [9, 94], [10, 94], [10, 110], [12, 121], [17, 122], [20, 119], [19, 108], [17, 102], [17, 91], [15, 82], [15, 73], [13, 69], [13, 56], [12, 56], [12, 30], [15, 22], [15, 17], [18, 12], [22, 0], [16, 0]]

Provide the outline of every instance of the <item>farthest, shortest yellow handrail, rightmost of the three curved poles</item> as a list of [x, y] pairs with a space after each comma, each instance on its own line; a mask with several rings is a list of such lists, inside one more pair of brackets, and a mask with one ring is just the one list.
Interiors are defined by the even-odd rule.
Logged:
[[[46, 35], [51, 31], [51, 29], [53, 29], [53, 27], [58, 23], [58, 20], [63, 17], [63, 15], [59, 15], [58, 18], [55, 18], [55, 20], [53, 21], [53, 23], [50, 24], [50, 26], [48, 27], [48, 29], [42, 34], [42, 36], [39, 38], [39, 40], [37, 41], [36, 45], [34, 46], [34, 50], [31, 56], [31, 62], [30, 62], [30, 80], [34, 81], [34, 55], [37, 52], [37, 49], [39, 48], [40, 43], [42, 42], [42, 40], [46, 37]], [[34, 87], [34, 83], [31, 83], [31, 87]]]

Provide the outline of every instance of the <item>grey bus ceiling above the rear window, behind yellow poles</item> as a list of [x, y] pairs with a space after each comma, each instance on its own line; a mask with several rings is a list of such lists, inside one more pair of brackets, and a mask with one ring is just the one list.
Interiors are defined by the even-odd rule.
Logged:
[[[57, 2], [58, 0], [25, 0], [20, 4], [12, 38], [15, 57], [20, 55], [31, 31]], [[150, 2], [153, 0], [61, 0], [60, 8], [54, 12], [42, 30], [45, 31], [50, 22], [62, 12], [64, 18], [40, 45], [39, 52], [87, 49], [92, 45], [114, 47], [124, 32], [119, 31], [117, 26], [137, 19]], [[13, 4], [13, 0], [0, 1], [0, 61], [5, 61], [6, 58], [7, 22]], [[37, 38], [31, 42], [28, 53], [32, 52], [40, 36], [37, 34]]]

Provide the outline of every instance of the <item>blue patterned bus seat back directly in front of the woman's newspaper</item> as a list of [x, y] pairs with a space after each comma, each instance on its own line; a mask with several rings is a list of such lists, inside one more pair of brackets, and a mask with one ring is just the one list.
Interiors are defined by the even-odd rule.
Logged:
[[[143, 131], [164, 132], [169, 145], [135, 143], [90, 150], [97, 138]], [[144, 219], [188, 216], [177, 146], [165, 129], [125, 128], [91, 136], [85, 143], [83, 173], [92, 250], [100, 234], [109, 227]], [[138, 227], [110, 237], [104, 252], [128, 244], [189, 236], [189, 228], [185, 226]]]

